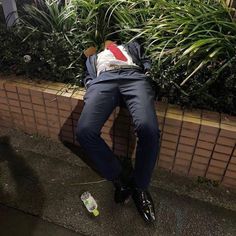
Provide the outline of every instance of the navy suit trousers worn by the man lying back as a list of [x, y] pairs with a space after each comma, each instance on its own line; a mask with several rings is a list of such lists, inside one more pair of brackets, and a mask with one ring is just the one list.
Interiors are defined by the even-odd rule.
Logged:
[[138, 188], [147, 189], [157, 160], [160, 136], [154, 91], [147, 80], [117, 79], [92, 84], [84, 96], [77, 140], [103, 177], [111, 181], [117, 178], [122, 167], [100, 134], [121, 97], [132, 116], [138, 138], [134, 181]]

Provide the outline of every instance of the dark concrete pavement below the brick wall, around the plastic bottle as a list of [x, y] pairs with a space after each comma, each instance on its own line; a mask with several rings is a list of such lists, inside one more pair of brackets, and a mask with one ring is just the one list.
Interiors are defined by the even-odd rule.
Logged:
[[[15, 221], [22, 226], [19, 230], [28, 227], [28, 232], [19, 236], [69, 236], [74, 232], [94, 236], [236, 235], [236, 211], [163, 189], [155, 184], [156, 175], [150, 191], [157, 221], [146, 225], [132, 201], [126, 205], [114, 203], [112, 185], [79, 157], [73, 161], [45, 155], [44, 151], [23, 150], [21, 145], [13, 145], [9, 136], [0, 137], [0, 214], [7, 216], [0, 219], [4, 236], [15, 236], [11, 231]], [[90, 191], [97, 200], [100, 216], [93, 217], [86, 211], [80, 200], [83, 191]], [[24, 216], [18, 217], [19, 212], [6, 206], [23, 211]]]

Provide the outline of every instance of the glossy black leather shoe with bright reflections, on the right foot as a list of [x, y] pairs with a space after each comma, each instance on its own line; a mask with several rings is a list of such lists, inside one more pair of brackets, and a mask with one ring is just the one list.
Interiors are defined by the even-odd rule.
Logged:
[[135, 188], [132, 197], [142, 218], [148, 223], [154, 222], [156, 220], [155, 207], [150, 193]]

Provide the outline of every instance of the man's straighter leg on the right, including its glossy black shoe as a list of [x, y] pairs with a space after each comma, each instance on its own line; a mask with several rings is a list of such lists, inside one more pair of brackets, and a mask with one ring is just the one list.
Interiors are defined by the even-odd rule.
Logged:
[[140, 215], [150, 223], [155, 221], [155, 207], [148, 186], [159, 147], [154, 93], [146, 80], [124, 81], [119, 88], [132, 115], [138, 136], [132, 197]]

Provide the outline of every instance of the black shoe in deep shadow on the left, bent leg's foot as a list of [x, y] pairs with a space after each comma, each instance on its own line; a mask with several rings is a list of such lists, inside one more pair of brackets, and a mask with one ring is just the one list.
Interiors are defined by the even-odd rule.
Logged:
[[132, 188], [124, 183], [120, 179], [113, 181], [115, 187], [114, 200], [116, 203], [125, 203], [128, 201], [132, 194]]

